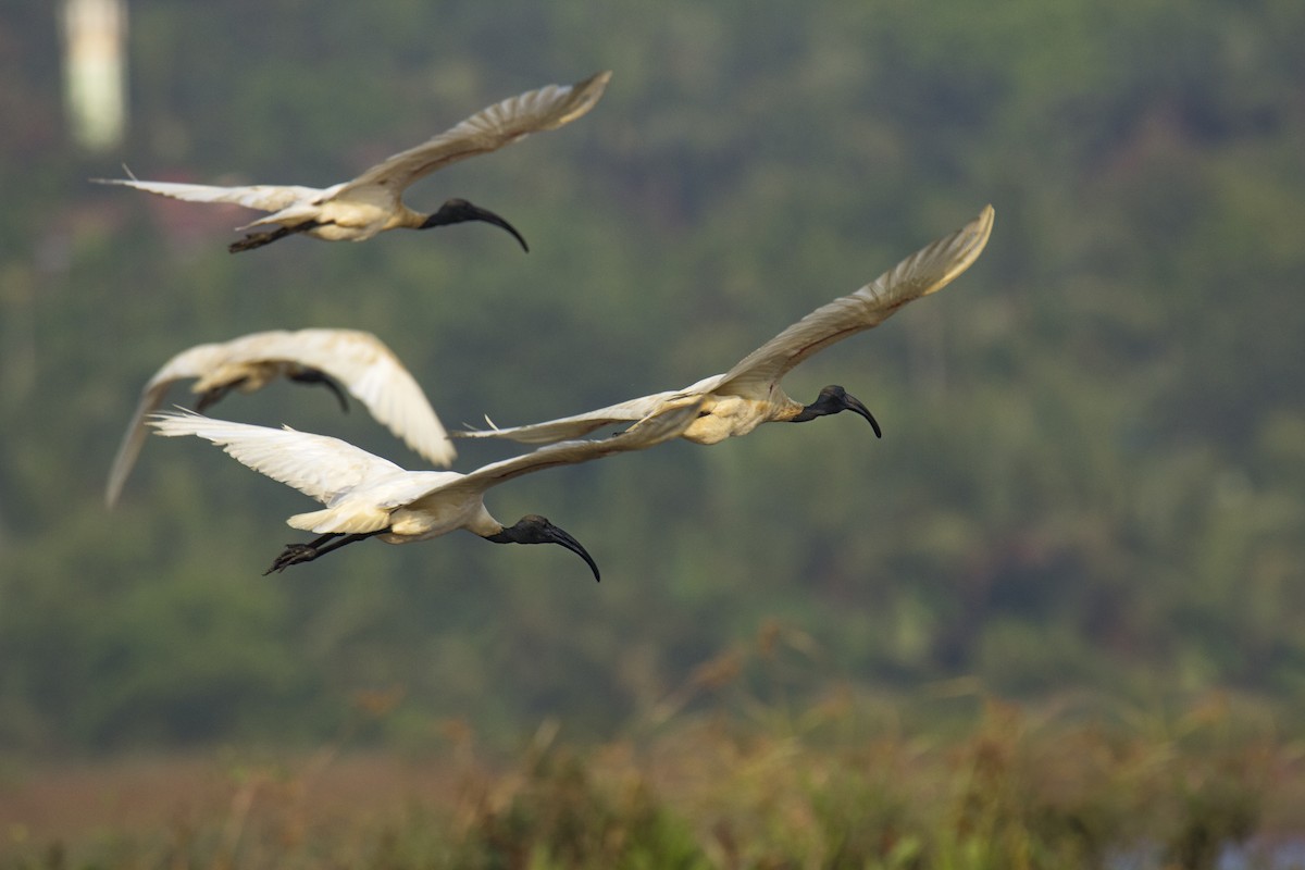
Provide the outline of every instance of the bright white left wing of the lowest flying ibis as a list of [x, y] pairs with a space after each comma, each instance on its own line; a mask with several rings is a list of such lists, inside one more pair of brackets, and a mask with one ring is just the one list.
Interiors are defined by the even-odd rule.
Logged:
[[215, 420], [189, 411], [150, 415], [149, 425], [155, 427], [161, 436], [207, 438], [254, 471], [322, 503], [348, 493], [368, 479], [403, 473], [393, 462], [346, 441], [295, 432], [290, 427], [271, 429]]

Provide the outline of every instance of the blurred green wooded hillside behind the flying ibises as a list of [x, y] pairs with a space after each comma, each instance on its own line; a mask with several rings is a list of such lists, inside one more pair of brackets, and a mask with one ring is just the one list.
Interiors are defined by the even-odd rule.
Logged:
[[[1305, 5], [130, 14], [110, 155], [68, 142], [52, 10], [0, 18], [0, 746], [313, 738], [386, 686], [399, 730], [559, 715], [602, 736], [776, 616], [831, 680], [1301, 708]], [[86, 184], [124, 160], [328, 184], [606, 68], [590, 116], [410, 192], [501, 211], [529, 256], [472, 224], [231, 257], [245, 213]], [[261, 578], [308, 502], [198, 442], [154, 440], [103, 509], [136, 391], [193, 343], [368, 329], [445, 421], [523, 423], [724, 370], [985, 202], [967, 275], [786, 382], [843, 383], [882, 442], [855, 419], [763, 427], [491, 493], [585, 541], [599, 587], [559, 548], [470, 535]], [[316, 391], [219, 412], [418, 462]]]

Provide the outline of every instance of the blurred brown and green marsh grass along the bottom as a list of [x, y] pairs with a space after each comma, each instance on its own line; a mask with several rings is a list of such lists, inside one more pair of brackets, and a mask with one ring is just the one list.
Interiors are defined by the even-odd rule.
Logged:
[[501, 753], [454, 719], [382, 750], [394, 690], [315, 754], [10, 760], [0, 867], [1300, 866], [1301, 743], [1255, 702], [788, 702], [808, 643], [767, 626], [598, 745], [545, 720]]

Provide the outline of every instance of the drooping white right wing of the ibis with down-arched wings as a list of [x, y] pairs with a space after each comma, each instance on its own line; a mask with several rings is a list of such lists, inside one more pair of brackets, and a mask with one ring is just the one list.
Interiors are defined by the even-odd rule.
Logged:
[[301, 329], [245, 340], [258, 338], [248, 344], [249, 361], [287, 360], [325, 372], [412, 450], [437, 466], [453, 462], [457, 451], [425, 393], [381, 339], [358, 330]]

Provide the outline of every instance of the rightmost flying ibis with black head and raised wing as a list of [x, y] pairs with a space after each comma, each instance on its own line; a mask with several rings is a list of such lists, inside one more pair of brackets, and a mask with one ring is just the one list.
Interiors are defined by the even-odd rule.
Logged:
[[817, 308], [724, 374], [714, 374], [683, 390], [655, 393], [547, 423], [510, 428], [497, 428], [491, 423], [489, 429], [450, 434], [455, 438], [512, 438], [525, 443], [547, 443], [578, 438], [600, 427], [622, 423], [633, 423], [632, 430], [637, 430], [658, 415], [701, 403], [699, 416], [683, 434], [696, 443], [716, 443], [748, 434], [762, 423], [804, 423], [840, 411], [861, 415], [874, 428], [874, 434], [882, 436], [869, 410], [842, 386], [826, 386], [814, 402], [801, 404], [784, 395], [779, 381], [817, 351], [878, 326], [908, 301], [946, 287], [983, 252], [992, 222], [993, 209], [987, 206], [957, 232], [907, 257], [855, 293]]

